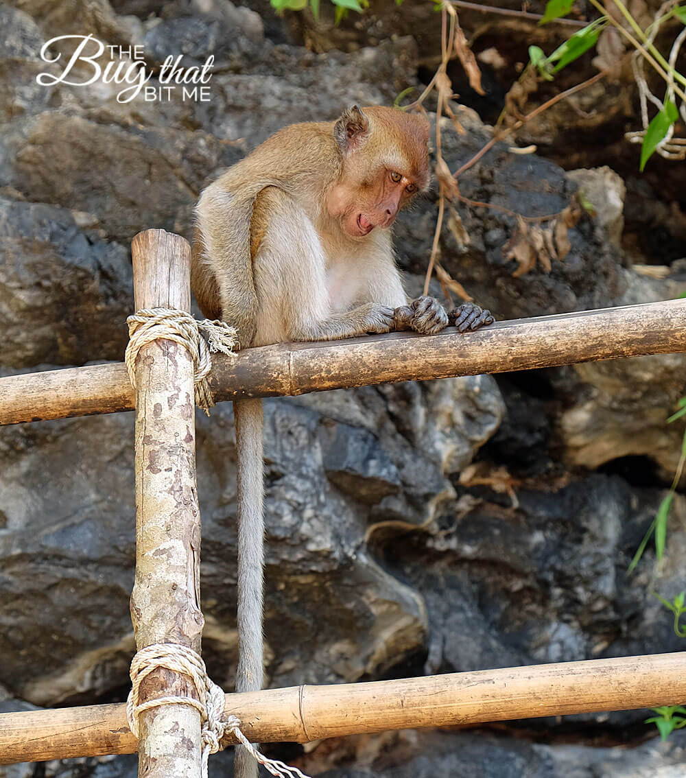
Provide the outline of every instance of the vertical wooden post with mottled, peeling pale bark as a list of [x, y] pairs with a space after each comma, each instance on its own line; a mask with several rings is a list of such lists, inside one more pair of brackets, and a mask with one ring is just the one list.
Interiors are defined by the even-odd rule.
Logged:
[[[138, 233], [131, 245], [136, 310], [191, 310], [191, 247], [164, 230]], [[131, 621], [136, 646], [180, 643], [200, 652], [200, 511], [195, 485], [193, 361], [167, 340], [143, 346], [136, 360], [136, 573]], [[142, 682], [139, 702], [196, 696], [190, 678], [164, 668]], [[138, 776], [199, 778], [200, 714], [189, 705], [143, 711]]]

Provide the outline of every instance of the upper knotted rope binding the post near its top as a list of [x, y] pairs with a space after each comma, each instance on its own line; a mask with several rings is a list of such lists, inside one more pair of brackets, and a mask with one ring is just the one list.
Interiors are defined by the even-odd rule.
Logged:
[[[198, 321], [186, 311], [174, 308], [141, 308], [129, 316], [126, 323], [129, 341], [124, 363], [134, 389], [136, 357], [142, 347], [158, 338], [173, 341], [183, 345], [191, 353], [195, 404], [209, 415], [209, 409], [215, 405], [207, 380], [212, 370], [210, 353], [232, 353], [233, 346], [236, 345], [236, 330], [225, 321]], [[207, 336], [207, 341], [201, 337], [200, 330]]]

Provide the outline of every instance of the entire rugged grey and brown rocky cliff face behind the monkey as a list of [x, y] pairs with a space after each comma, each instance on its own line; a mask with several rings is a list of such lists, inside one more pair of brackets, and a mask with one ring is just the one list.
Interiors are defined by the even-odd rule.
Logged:
[[[401, 11], [380, 2], [359, 26], [328, 31], [301, 17], [289, 26], [266, 2], [249, 5], [0, 5], [3, 373], [121, 359], [131, 237], [151, 226], [189, 235], [195, 198], [222, 168], [283, 124], [332, 118], [348, 103], [392, 102], [422, 77], [435, 40], [435, 17], [410, 0]], [[499, 29], [489, 28], [493, 45]], [[40, 61], [47, 40], [89, 33], [142, 46], [153, 67], [169, 54], [183, 54], [187, 65], [213, 54], [212, 99], [118, 103], [118, 89], [101, 81], [37, 83], [57, 67]], [[331, 43], [345, 53], [327, 51]], [[446, 126], [443, 153], [453, 169], [488, 138], [473, 110], [456, 110], [467, 135]], [[574, 131], [563, 119], [564, 131]], [[583, 112], [576, 121], [587, 121]], [[663, 216], [677, 213], [669, 192], [660, 206], [648, 184], [629, 181], [625, 195], [611, 170], [570, 173], [558, 149], [548, 156], [497, 145], [460, 186], [527, 216], [565, 208], [582, 187], [595, 216], [585, 212], [569, 230], [564, 261], [549, 274], [537, 268], [513, 278], [514, 261], [502, 252], [512, 217], [461, 209], [468, 240], [448, 225], [441, 240], [451, 275], [499, 318], [681, 293], [678, 262], [661, 279], [632, 268], [654, 260], [652, 244], [632, 238], [650, 209], [660, 229], [673, 229], [673, 258], [680, 245], [686, 254], [681, 222]], [[579, 149], [569, 158], [572, 166], [588, 159]], [[397, 226], [408, 289], [422, 282], [435, 200], [430, 192]], [[638, 574], [626, 573], [677, 463], [681, 429], [665, 419], [683, 392], [684, 358], [654, 356], [267, 401], [271, 685], [683, 650], [670, 614], [649, 593], [653, 575], [667, 598], [686, 588], [681, 496], [666, 558], [654, 568], [648, 550]], [[230, 405], [198, 416], [204, 653], [225, 689], [236, 664], [235, 460]], [[131, 414], [0, 428], [2, 710], [124, 699], [134, 651], [132, 466]], [[681, 774], [686, 741], [640, 745], [654, 734], [646, 715], [271, 751], [341, 778]], [[625, 748], [610, 748], [618, 744]], [[230, 759], [214, 757], [215, 774]], [[130, 775], [135, 762], [124, 757], [0, 768], [7, 778]]]

